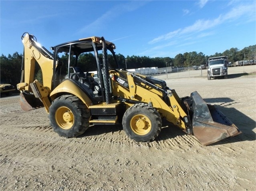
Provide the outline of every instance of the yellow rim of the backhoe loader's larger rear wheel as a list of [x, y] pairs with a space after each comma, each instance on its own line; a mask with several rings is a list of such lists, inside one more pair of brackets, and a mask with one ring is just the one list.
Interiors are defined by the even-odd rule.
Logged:
[[67, 130], [74, 124], [74, 115], [69, 108], [62, 106], [56, 110], [55, 121], [60, 128]]

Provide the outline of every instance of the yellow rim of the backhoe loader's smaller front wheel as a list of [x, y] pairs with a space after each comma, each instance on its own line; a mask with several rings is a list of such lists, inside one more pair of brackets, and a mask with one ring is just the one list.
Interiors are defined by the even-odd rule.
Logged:
[[145, 135], [151, 130], [151, 121], [147, 116], [138, 114], [131, 118], [130, 126], [137, 135]]

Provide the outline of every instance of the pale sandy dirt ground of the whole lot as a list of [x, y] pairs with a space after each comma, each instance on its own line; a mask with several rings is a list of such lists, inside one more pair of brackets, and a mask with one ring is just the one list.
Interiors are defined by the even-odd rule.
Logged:
[[198, 91], [243, 132], [211, 146], [167, 123], [149, 143], [111, 125], [67, 139], [53, 132], [44, 108], [25, 112], [17, 95], [2, 96], [0, 190], [256, 190], [256, 66], [232, 74], [237, 68], [228, 79], [166, 80], [180, 97]]

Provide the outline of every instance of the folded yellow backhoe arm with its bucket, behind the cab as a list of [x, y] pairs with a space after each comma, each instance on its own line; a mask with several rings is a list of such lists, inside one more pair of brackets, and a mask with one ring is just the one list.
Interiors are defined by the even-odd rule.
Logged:
[[[31, 110], [41, 107], [43, 103], [46, 112], [48, 112], [51, 104], [48, 95], [52, 89], [53, 56], [47, 49], [36, 42], [33, 35], [24, 33], [22, 35], [22, 43], [24, 45], [24, 61], [22, 61], [21, 82], [17, 85], [17, 89], [21, 92], [20, 105], [23, 110]], [[42, 70], [43, 85], [35, 80], [36, 61]]]

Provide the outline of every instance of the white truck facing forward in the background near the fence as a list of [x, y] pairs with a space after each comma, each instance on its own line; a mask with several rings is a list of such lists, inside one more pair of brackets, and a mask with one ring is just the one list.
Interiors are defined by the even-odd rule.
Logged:
[[228, 57], [212, 57], [208, 61], [207, 79], [210, 80], [212, 77], [223, 77], [228, 78]]

